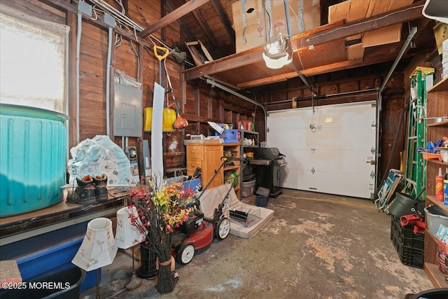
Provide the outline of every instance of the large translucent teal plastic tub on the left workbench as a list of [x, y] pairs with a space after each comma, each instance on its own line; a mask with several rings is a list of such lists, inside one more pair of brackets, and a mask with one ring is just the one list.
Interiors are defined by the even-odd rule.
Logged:
[[55, 111], [0, 104], [0, 218], [62, 201], [68, 119]]

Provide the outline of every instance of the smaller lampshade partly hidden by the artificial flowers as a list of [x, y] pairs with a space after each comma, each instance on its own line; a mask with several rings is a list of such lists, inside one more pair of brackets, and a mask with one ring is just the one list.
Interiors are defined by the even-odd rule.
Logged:
[[132, 225], [130, 214], [134, 214], [134, 217], [138, 217], [137, 208], [123, 207], [117, 211], [115, 244], [121, 249], [130, 248], [145, 239], [145, 235], [140, 229], [137, 226]]

